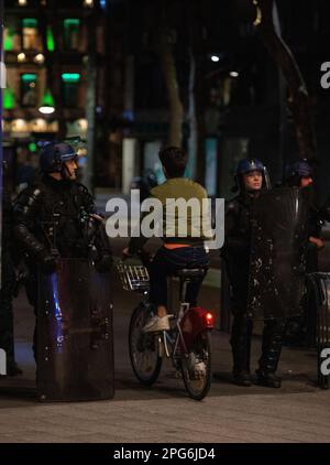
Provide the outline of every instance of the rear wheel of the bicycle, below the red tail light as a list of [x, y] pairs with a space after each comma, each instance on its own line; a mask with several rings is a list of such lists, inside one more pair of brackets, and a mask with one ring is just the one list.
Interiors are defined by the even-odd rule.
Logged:
[[211, 344], [209, 332], [196, 336], [190, 352], [182, 359], [182, 374], [188, 394], [202, 400], [211, 387]]

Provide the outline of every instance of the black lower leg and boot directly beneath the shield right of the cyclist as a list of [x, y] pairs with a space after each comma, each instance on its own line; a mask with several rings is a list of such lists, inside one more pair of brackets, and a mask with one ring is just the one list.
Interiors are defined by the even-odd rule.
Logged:
[[284, 320], [268, 320], [263, 332], [262, 356], [256, 370], [257, 383], [267, 388], [280, 388], [280, 378], [275, 376], [282, 352], [285, 329]]

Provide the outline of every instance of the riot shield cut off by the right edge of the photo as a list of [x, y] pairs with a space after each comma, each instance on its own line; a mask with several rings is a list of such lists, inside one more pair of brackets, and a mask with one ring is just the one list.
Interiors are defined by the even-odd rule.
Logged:
[[323, 372], [323, 350], [330, 349], [330, 273], [310, 273], [316, 303], [316, 343], [318, 352], [318, 383], [323, 389], [330, 388], [330, 375]]

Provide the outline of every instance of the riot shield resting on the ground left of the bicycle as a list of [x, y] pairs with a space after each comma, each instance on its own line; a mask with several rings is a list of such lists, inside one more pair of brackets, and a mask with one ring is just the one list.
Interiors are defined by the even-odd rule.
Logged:
[[87, 260], [38, 272], [37, 392], [41, 401], [113, 397], [110, 275]]

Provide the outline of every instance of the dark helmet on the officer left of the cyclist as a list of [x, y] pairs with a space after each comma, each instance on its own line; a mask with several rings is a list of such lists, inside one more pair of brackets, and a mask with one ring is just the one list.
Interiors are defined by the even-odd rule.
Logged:
[[61, 173], [64, 162], [76, 158], [76, 151], [68, 143], [48, 142], [41, 151], [40, 167], [44, 173]]

